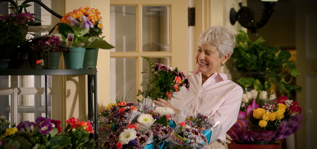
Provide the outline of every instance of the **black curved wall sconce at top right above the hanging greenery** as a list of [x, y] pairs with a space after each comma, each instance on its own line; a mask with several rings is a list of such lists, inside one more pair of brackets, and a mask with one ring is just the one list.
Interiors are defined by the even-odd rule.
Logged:
[[249, 7], [242, 6], [242, 3], [239, 3], [240, 10], [235, 12], [233, 8], [230, 10], [230, 23], [234, 25], [237, 20], [243, 27], [251, 29], [252, 33], [255, 33], [257, 29], [264, 26], [270, 19], [271, 15], [275, 10], [273, 10], [274, 5], [278, 0], [261, 0], [264, 5], [264, 10], [262, 17], [259, 21], [254, 20], [254, 11]]

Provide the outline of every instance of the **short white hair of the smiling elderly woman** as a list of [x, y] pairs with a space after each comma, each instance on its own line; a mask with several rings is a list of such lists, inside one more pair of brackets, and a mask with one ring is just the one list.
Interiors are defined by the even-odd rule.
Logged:
[[200, 34], [197, 44], [200, 41], [201, 44], [216, 46], [220, 57], [223, 57], [226, 53], [230, 53], [231, 56], [235, 47], [235, 37], [226, 26], [207, 28]]

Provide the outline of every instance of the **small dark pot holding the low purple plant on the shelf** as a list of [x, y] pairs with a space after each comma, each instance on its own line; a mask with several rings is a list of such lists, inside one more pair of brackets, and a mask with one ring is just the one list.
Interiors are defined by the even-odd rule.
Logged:
[[61, 52], [42, 53], [45, 69], [58, 69], [60, 64]]

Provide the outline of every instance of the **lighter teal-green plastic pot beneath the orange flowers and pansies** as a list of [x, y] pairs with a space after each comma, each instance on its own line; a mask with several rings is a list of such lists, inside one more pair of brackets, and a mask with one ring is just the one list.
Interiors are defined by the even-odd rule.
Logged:
[[70, 52], [64, 54], [66, 69], [83, 69], [86, 49], [83, 47], [69, 48]]

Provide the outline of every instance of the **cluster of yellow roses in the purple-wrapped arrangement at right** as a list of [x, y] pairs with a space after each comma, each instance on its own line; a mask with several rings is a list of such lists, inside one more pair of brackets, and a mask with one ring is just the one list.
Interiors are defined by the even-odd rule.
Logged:
[[266, 112], [266, 110], [263, 108], [257, 108], [253, 111], [253, 117], [261, 120], [259, 122], [259, 126], [263, 128], [267, 126], [268, 121], [274, 121], [276, 119], [281, 120], [282, 118], [284, 118], [284, 112], [286, 108], [287, 106], [282, 103], [279, 103], [278, 110], [272, 113], [269, 111]]

